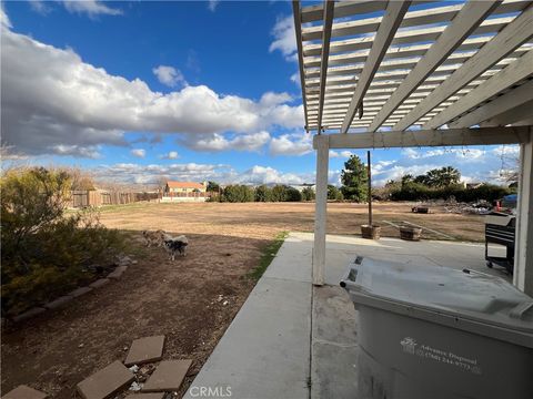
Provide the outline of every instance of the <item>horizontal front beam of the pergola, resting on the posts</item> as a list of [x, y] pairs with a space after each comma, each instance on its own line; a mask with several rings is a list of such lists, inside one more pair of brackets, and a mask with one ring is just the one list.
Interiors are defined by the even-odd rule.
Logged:
[[[409, 146], [492, 145], [525, 143], [532, 126], [447, 129], [328, 134], [330, 149], [392, 149]], [[316, 149], [316, 136], [313, 147]]]

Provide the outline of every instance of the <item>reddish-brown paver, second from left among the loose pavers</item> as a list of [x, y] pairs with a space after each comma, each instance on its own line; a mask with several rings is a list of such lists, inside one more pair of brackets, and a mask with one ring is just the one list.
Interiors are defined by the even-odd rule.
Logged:
[[104, 399], [120, 391], [134, 378], [134, 375], [117, 360], [86, 378], [77, 388], [84, 399]]

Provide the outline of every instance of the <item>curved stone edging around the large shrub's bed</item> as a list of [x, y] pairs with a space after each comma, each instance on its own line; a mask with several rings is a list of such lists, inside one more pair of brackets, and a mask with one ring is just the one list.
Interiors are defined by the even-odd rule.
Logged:
[[[44, 313], [46, 310], [53, 310], [62, 307], [63, 305], [70, 303], [72, 299], [78, 298], [82, 295], [86, 295], [90, 291], [92, 291], [95, 288], [100, 288], [104, 285], [107, 285], [111, 279], [120, 279], [122, 277], [122, 274], [128, 269], [128, 265], [132, 264], [135, 265], [137, 260], [131, 259], [129, 256], [124, 256], [123, 258], [120, 259], [119, 265], [107, 275], [107, 277], [97, 279], [89, 284], [86, 287], [78, 287], [73, 291], [63, 295], [59, 298], [53, 299], [52, 301], [49, 301], [48, 304], [44, 304], [42, 306], [36, 306], [32, 307], [31, 309], [14, 316], [11, 321], [13, 323], [21, 323], [24, 320], [28, 320], [37, 315], [40, 315]], [[3, 325], [3, 323], [2, 323]]]

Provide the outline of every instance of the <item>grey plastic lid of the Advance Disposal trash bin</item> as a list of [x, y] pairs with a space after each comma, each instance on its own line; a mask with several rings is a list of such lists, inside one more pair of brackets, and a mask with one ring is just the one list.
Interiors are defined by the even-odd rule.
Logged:
[[500, 277], [358, 256], [341, 286], [355, 303], [400, 313], [408, 307], [411, 316], [447, 318], [443, 324], [510, 341], [522, 332], [519, 341], [533, 348], [533, 298]]

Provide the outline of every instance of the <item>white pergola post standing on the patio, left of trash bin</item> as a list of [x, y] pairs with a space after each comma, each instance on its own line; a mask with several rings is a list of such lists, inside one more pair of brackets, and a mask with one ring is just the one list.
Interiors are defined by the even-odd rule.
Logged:
[[314, 136], [314, 146], [316, 149], [316, 200], [314, 211], [313, 284], [316, 286], [324, 284], [329, 139], [326, 134]]

